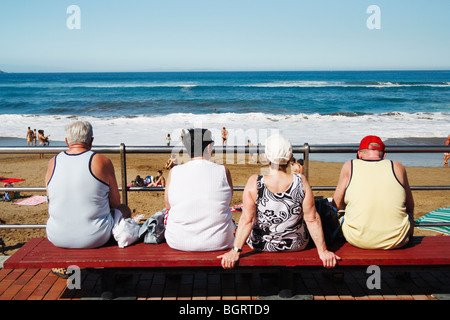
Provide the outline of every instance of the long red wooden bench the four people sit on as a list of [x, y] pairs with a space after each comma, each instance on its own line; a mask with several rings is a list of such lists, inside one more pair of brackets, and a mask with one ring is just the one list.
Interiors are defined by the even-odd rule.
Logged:
[[[348, 243], [339, 243], [330, 248], [342, 260], [333, 270], [393, 267], [400, 271], [411, 268], [420, 270], [449, 269], [450, 237], [414, 237], [410, 243], [396, 250], [363, 250]], [[103, 268], [151, 268], [155, 272], [184, 272], [205, 269], [221, 272], [217, 256], [222, 252], [182, 252], [171, 249], [166, 243], [150, 245], [137, 243], [126, 248], [115, 244], [97, 249], [62, 249], [52, 245], [46, 238], [31, 239], [4, 263], [4, 268], [49, 268], [69, 267]], [[301, 268], [325, 270], [315, 248], [298, 252], [268, 253], [251, 250], [244, 246], [235, 272], [277, 270], [283, 276], [283, 284], [289, 288], [292, 273]], [[228, 271], [227, 271], [228, 272]], [[110, 273], [106, 273], [108, 277]], [[108, 279], [106, 279], [108, 280]], [[288, 290], [289, 292], [289, 290]]]

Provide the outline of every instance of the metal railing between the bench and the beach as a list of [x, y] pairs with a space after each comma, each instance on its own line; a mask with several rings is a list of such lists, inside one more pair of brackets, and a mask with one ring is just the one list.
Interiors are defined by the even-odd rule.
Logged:
[[[67, 147], [0, 147], [1, 154], [56, 154], [66, 151]], [[122, 202], [128, 204], [128, 192], [135, 191], [164, 191], [161, 187], [127, 187], [127, 154], [180, 154], [183, 152], [183, 147], [173, 146], [94, 146], [92, 151], [103, 154], [119, 154], [120, 155], [120, 172], [121, 185], [119, 191], [122, 194]], [[312, 153], [356, 153], [358, 146], [356, 145], [309, 145], [305, 143], [303, 146], [293, 146], [294, 154], [303, 154], [304, 174], [309, 177], [310, 154]], [[229, 147], [214, 147], [216, 155], [235, 155], [235, 154], [260, 154], [264, 153], [264, 146], [229, 146]], [[443, 153], [450, 152], [450, 146], [432, 145], [432, 146], [386, 146], [387, 153]], [[450, 169], [449, 169], [450, 170]], [[313, 191], [333, 191], [336, 186], [311, 186]], [[243, 186], [235, 186], [234, 191], [243, 191]], [[450, 190], [450, 185], [440, 186], [411, 186], [413, 191], [433, 191], [433, 190]], [[25, 191], [25, 192], [45, 192], [45, 187], [0, 187], [0, 192], [7, 191]], [[416, 224], [417, 226], [418, 224]], [[421, 226], [450, 226], [450, 223], [421, 223]], [[13, 228], [45, 228], [45, 225], [0, 225], [0, 229]]]

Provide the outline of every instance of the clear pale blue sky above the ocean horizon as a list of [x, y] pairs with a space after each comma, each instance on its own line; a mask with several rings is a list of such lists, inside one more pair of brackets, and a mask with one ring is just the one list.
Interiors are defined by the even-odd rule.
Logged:
[[0, 69], [448, 70], [449, 15], [449, 0], [0, 0]]

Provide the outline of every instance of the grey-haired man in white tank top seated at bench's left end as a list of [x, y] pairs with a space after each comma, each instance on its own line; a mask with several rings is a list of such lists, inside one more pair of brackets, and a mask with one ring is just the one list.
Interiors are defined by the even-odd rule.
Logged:
[[57, 247], [100, 247], [113, 236], [115, 223], [131, 217], [130, 208], [120, 202], [111, 160], [93, 152], [92, 141], [89, 122], [70, 124], [66, 128], [69, 149], [48, 164], [46, 231]]

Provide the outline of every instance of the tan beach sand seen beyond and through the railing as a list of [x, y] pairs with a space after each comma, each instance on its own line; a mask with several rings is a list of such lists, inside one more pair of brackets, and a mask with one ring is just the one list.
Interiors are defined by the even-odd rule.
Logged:
[[[43, 187], [44, 176], [48, 160], [53, 155], [46, 154], [44, 159], [39, 155], [0, 155], [2, 164], [0, 176], [8, 178], [25, 179], [15, 184], [16, 187]], [[116, 177], [120, 183], [119, 155], [106, 154], [114, 163]], [[157, 170], [163, 169], [168, 154], [129, 154], [127, 155], [127, 183], [130, 184], [136, 175], [145, 178], [156, 175]], [[241, 155], [242, 157], [242, 155]], [[389, 155], [387, 156], [389, 158]], [[216, 161], [220, 159], [216, 158]], [[242, 159], [241, 159], [242, 160]], [[232, 163], [229, 163], [232, 162]], [[252, 174], [264, 172], [267, 166], [262, 164], [239, 163], [229, 161], [224, 163], [231, 172], [234, 186], [245, 186]], [[242, 162], [242, 161], [241, 161]], [[329, 163], [315, 161], [310, 164], [309, 182], [312, 186], [336, 186], [342, 163]], [[164, 176], [168, 171], [163, 169]], [[450, 181], [450, 168], [407, 167], [410, 185], [448, 185]], [[21, 199], [32, 195], [44, 195], [42, 192], [21, 192]], [[332, 197], [333, 191], [315, 191], [315, 196]], [[415, 218], [441, 208], [449, 206], [450, 191], [414, 191]], [[20, 199], [20, 200], [21, 200]], [[19, 200], [15, 200], [19, 201]], [[380, 199], [382, 201], [382, 199]], [[235, 191], [231, 206], [242, 203], [242, 192]], [[137, 191], [128, 193], [128, 205], [133, 215], [143, 214], [145, 218], [164, 208], [164, 192]], [[36, 206], [21, 206], [13, 202], [0, 202], [1, 224], [45, 224], [48, 218], [48, 205], [46, 203]], [[234, 214], [239, 221], [239, 213]], [[432, 231], [415, 229], [415, 235], [436, 235]], [[0, 229], [6, 247], [5, 254], [11, 255], [18, 248], [34, 237], [44, 237], [45, 229]]]

